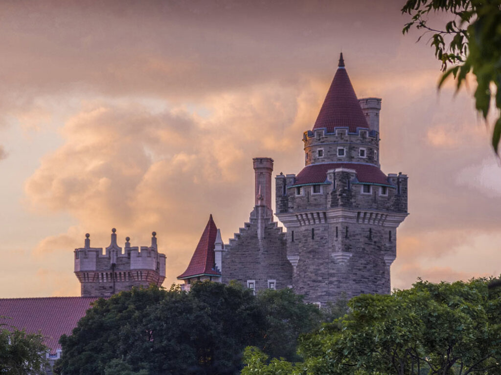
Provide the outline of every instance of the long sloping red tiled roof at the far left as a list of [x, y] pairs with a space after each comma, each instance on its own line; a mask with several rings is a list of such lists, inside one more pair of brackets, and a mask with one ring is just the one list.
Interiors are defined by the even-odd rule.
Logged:
[[28, 333], [41, 331], [51, 354], [61, 349], [59, 337], [71, 334], [96, 297], [2, 298], [0, 318], [5, 327], [15, 326]]

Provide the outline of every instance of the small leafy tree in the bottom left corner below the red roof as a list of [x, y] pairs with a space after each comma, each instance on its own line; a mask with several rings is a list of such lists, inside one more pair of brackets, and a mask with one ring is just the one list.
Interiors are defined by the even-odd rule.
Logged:
[[47, 347], [38, 333], [0, 329], [0, 373], [6, 375], [43, 374]]

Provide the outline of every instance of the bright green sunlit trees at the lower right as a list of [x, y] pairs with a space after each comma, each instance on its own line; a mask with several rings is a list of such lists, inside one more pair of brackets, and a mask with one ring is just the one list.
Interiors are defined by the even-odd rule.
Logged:
[[247, 351], [242, 373], [280, 373], [272, 364], [297, 375], [501, 373], [501, 299], [488, 293], [485, 279], [419, 281], [349, 305], [348, 315], [300, 339], [304, 363], [267, 364], [262, 353]]

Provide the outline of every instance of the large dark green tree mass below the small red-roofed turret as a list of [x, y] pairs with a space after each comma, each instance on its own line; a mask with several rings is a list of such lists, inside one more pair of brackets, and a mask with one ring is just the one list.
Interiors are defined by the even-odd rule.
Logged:
[[151, 286], [99, 299], [61, 337], [61, 374], [232, 374], [246, 345], [260, 344], [264, 325], [247, 289], [214, 282], [189, 293]]

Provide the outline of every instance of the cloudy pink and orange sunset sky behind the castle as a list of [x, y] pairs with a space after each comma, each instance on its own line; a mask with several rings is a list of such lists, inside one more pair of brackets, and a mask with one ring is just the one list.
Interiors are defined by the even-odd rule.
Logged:
[[[474, 81], [437, 91], [402, 1], [0, 2], [0, 297], [80, 295], [76, 247], [148, 245], [176, 282], [209, 214], [254, 205], [252, 158], [304, 166], [342, 50], [382, 98], [380, 161], [409, 176], [392, 287], [501, 273], [501, 169]], [[440, 24], [442, 16], [434, 21]]]

